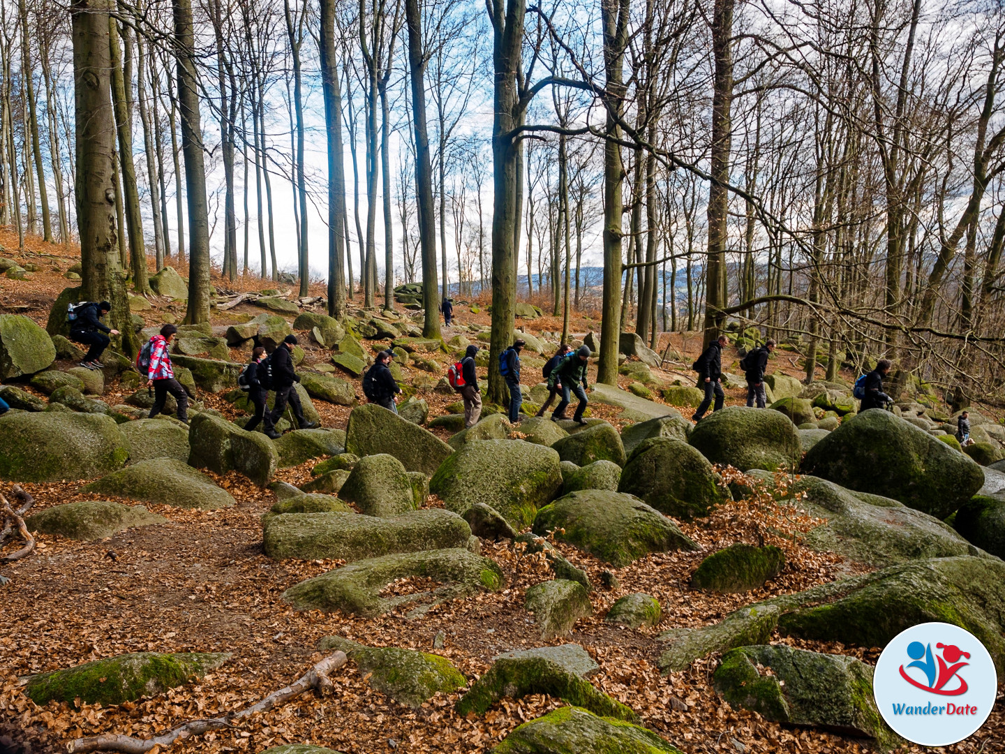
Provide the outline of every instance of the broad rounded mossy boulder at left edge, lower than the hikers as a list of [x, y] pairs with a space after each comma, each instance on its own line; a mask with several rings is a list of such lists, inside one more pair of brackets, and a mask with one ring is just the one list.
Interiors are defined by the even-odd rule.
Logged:
[[0, 479], [86, 480], [122, 468], [129, 440], [111, 416], [8, 411], [0, 416]]

